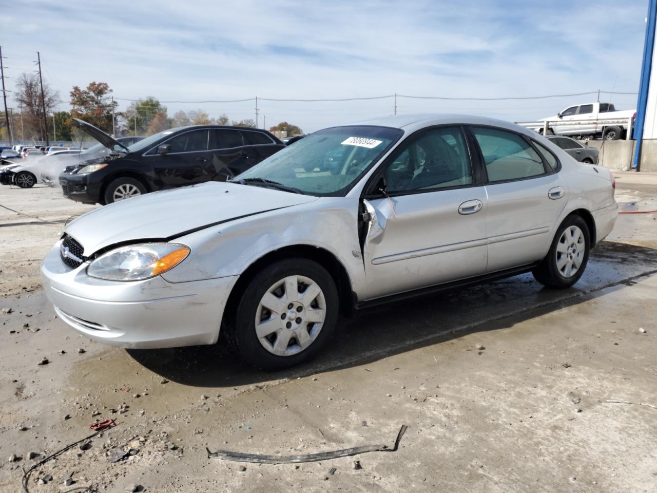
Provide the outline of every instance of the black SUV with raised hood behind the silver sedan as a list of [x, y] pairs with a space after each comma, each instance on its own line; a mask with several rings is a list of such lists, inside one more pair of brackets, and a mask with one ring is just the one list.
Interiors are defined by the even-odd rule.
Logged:
[[110, 149], [103, 162], [82, 163], [60, 174], [69, 199], [111, 204], [156, 190], [225, 181], [285, 145], [266, 130], [196, 125], [172, 128], [125, 147], [101, 129], [76, 125]]

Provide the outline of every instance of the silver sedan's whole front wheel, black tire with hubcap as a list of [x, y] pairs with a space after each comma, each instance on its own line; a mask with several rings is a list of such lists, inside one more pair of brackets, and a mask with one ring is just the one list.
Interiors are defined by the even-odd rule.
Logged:
[[316, 356], [337, 319], [338, 291], [328, 271], [312, 260], [289, 258], [255, 275], [225, 328], [243, 360], [275, 371]]

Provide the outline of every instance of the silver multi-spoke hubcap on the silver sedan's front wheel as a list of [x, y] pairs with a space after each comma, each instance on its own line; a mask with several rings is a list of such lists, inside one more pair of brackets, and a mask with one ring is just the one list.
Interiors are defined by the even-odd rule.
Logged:
[[256, 335], [267, 351], [292, 356], [312, 344], [326, 319], [326, 300], [319, 285], [302, 275], [277, 281], [256, 310]]

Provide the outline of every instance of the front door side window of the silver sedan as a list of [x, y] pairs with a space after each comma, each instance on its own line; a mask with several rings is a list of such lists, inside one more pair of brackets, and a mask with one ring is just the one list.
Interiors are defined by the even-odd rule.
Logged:
[[472, 164], [460, 127], [424, 131], [400, 151], [386, 168], [388, 193], [472, 183]]

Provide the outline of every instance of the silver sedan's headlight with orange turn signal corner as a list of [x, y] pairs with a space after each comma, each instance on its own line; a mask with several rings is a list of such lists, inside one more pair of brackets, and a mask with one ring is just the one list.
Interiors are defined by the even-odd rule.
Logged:
[[87, 275], [110, 281], [141, 281], [180, 264], [189, 247], [177, 243], [144, 243], [116, 248], [91, 262]]

